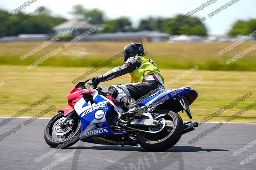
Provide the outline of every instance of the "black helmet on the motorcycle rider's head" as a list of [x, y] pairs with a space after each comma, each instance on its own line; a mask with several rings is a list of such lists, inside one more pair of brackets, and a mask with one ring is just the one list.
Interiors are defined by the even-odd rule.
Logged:
[[134, 57], [136, 55], [144, 56], [144, 48], [142, 44], [139, 43], [131, 43], [124, 47], [124, 62], [130, 57]]

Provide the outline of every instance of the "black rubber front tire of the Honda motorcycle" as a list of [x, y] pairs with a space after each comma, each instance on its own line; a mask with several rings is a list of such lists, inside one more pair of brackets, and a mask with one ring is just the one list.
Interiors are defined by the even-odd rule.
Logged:
[[[72, 113], [70, 113], [70, 114], [72, 114]], [[76, 113], [74, 113], [72, 116], [77, 116], [78, 119], [79, 119], [79, 116], [78, 116]], [[72, 117], [72, 116], [71, 116], [71, 117]], [[52, 137], [51, 137], [50, 134], [49, 134], [49, 128], [51, 128], [52, 125], [56, 122], [56, 120], [58, 120], [58, 119], [61, 118], [61, 117], [64, 117], [64, 113], [62, 113], [62, 112], [60, 112], [60, 113], [58, 113], [57, 115], [53, 116], [52, 119], [47, 123], [47, 125], [46, 125], [45, 128], [44, 128], [44, 140], [45, 140], [45, 142], [46, 142], [47, 144], [49, 144], [49, 145], [50, 145], [51, 147], [53, 147], [53, 148], [56, 148], [56, 147], [57, 147], [58, 145], [60, 145], [60, 144], [64, 144], [65, 142], [67, 142], [67, 141], [70, 140], [71, 138], [76, 137], [77, 135], [79, 135], [80, 132], [81, 132], [82, 123], [81, 123], [81, 120], [79, 119], [79, 122], [78, 122], [78, 124], [77, 124], [77, 126], [76, 126], [76, 129], [77, 129], [77, 130], [76, 130], [70, 137], [68, 137], [68, 138], [66, 138], [66, 139], [64, 139], [64, 140], [61, 140], [61, 141], [53, 140]], [[73, 142], [70, 140], [71, 143], [65, 145], [65, 146], [62, 147], [62, 148], [67, 148], [67, 147], [69, 147], [69, 146], [75, 144], [79, 139], [80, 139], [80, 138], [78, 137], [78, 138], [75, 139]]]

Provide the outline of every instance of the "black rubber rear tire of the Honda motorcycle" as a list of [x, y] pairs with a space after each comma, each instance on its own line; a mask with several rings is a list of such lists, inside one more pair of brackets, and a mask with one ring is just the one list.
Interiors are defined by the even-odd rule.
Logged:
[[165, 151], [171, 148], [172, 146], [174, 146], [180, 140], [180, 137], [182, 136], [182, 133], [183, 133], [183, 121], [180, 115], [166, 109], [155, 110], [154, 113], [165, 113], [166, 116], [168, 115], [171, 116], [173, 119], [172, 122], [174, 125], [172, 131], [166, 137], [157, 141], [148, 140], [146, 137], [144, 137], [146, 135], [145, 133], [139, 132], [137, 136], [137, 140], [140, 146], [148, 151], [152, 151], [152, 152]]

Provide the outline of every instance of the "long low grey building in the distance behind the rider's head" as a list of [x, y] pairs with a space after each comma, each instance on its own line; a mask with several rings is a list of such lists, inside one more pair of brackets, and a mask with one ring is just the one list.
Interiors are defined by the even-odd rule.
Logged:
[[119, 32], [119, 33], [98, 33], [91, 34], [83, 38], [84, 41], [145, 41], [159, 42], [168, 41], [170, 35], [157, 31], [140, 32]]

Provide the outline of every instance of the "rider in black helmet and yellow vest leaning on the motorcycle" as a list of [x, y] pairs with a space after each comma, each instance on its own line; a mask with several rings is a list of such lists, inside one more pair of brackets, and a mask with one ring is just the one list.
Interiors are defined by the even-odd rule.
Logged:
[[[138, 106], [134, 104], [134, 101], [152, 90], [164, 88], [164, 77], [153, 60], [145, 57], [142, 44], [128, 44], [124, 47], [123, 55], [125, 62], [123, 65], [93, 78], [92, 81], [99, 84], [129, 73], [131, 83], [111, 85], [108, 88], [108, 94], [121, 102], [127, 109], [135, 111]], [[131, 104], [133, 107], [128, 108], [127, 106], [131, 106]]]

